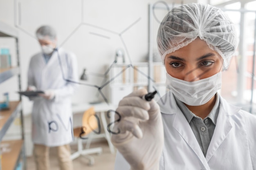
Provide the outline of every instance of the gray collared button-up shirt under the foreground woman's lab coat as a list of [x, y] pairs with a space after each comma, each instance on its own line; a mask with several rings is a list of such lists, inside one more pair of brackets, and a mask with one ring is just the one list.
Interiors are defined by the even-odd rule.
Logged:
[[216, 96], [216, 103], [214, 104], [213, 109], [211, 110], [209, 115], [204, 119], [192, 113], [184, 103], [182, 103], [179, 99], [177, 99], [174, 96], [177, 106], [180, 108], [180, 110], [186, 117], [193, 133], [195, 134], [195, 138], [197, 139], [198, 144], [200, 145], [200, 148], [204, 153], [204, 157], [206, 156], [211, 138], [213, 136], [213, 132], [217, 122], [217, 117], [219, 114], [220, 97], [218, 93], [216, 93]]

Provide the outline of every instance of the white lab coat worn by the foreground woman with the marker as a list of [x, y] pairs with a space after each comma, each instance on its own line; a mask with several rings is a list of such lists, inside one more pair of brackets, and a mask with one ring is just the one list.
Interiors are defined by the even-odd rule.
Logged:
[[[204, 157], [173, 94], [169, 92], [162, 99], [168, 102], [158, 102], [164, 125], [159, 170], [256, 170], [255, 115], [228, 104], [220, 97], [216, 128]], [[117, 153], [115, 170], [129, 169], [124, 157]]]

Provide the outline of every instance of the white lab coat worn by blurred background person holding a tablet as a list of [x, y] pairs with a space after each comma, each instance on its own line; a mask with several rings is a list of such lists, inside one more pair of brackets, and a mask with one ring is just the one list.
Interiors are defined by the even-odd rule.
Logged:
[[71, 95], [77, 85], [67, 82], [64, 78], [78, 80], [74, 53], [58, 49], [58, 52], [54, 51], [47, 64], [42, 53], [31, 58], [28, 86], [36, 86], [37, 90], [42, 91], [51, 89], [55, 93], [52, 100], [43, 97], [33, 98], [32, 140], [34, 144], [61, 146], [73, 140]]

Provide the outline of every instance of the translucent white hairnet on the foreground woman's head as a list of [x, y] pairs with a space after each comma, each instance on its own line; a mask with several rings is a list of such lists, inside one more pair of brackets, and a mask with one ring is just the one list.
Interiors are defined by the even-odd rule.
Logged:
[[199, 37], [223, 58], [223, 69], [227, 69], [236, 49], [234, 24], [220, 9], [206, 4], [184, 4], [173, 8], [162, 20], [157, 46], [162, 55], [172, 53]]

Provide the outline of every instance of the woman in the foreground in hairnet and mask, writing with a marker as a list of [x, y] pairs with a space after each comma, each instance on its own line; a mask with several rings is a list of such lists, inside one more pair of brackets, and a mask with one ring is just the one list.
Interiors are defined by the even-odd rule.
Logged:
[[145, 89], [120, 101], [115, 170], [256, 170], [256, 116], [218, 93], [234, 24], [216, 7], [184, 4], [161, 22], [157, 45], [170, 91], [158, 103]]

